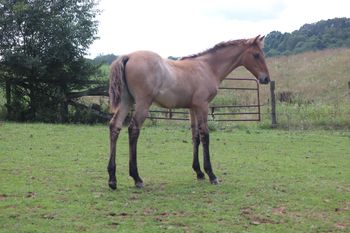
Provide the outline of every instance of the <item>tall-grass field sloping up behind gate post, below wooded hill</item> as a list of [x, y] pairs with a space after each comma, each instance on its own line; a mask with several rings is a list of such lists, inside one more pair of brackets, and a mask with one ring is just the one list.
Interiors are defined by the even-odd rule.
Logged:
[[[271, 79], [276, 81], [277, 121], [284, 129], [350, 129], [350, 49], [329, 49], [294, 56], [268, 58]], [[230, 77], [251, 76], [240, 68]], [[263, 124], [269, 123], [269, 87], [260, 86]]]

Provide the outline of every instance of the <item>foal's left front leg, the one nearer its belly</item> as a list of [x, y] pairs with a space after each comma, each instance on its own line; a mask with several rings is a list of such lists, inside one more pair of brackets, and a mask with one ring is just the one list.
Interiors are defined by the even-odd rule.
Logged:
[[199, 159], [198, 159], [198, 148], [199, 148], [199, 144], [200, 144], [198, 123], [197, 123], [196, 116], [192, 110], [190, 110], [190, 116], [191, 116], [192, 144], [193, 144], [192, 168], [197, 174], [197, 179], [204, 180], [205, 176], [201, 170], [201, 167], [199, 165]]

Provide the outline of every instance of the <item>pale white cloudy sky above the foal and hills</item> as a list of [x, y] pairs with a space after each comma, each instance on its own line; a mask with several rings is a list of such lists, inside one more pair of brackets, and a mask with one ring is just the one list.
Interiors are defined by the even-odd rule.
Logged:
[[350, 17], [349, 0], [100, 0], [94, 58], [150, 50], [195, 54], [215, 44]]

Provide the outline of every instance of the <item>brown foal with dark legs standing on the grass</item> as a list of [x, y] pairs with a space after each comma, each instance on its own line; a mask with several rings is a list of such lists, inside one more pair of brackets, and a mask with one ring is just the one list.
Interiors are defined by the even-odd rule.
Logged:
[[218, 184], [209, 155], [208, 106], [220, 83], [239, 66], [249, 70], [259, 83], [268, 84], [269, 71], [262, 51], [264, 36], [221, 42], [203, 52], [178, 60], [163, 59], [150, 51], [136, 51], [119, 56], [110, 67], [109, 122], [110, 157], [108, 185], [117, 188], [116, 142], [123, 122], [132, 106], [134, 113], [128, 126], [129, 175], [137, 188], [144, 187], [137, 168], [137, 141], [150, 106], [189, 109], [192, 129], [192, 168], [198, 180], [205, 179], [198, 147], [203, 146], [204, 171], [211, 184]]

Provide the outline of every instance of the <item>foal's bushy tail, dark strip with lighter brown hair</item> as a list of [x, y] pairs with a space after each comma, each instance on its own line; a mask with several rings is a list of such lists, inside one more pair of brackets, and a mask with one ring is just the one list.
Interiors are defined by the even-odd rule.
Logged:
[[128, 56], [121, 56], [111, 64], [109, 75], [109, 110], [111, 113], [115, 113], [118, 110], [123, 89], [127, 85], [125, 65], [128, 60]]

